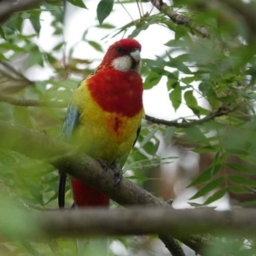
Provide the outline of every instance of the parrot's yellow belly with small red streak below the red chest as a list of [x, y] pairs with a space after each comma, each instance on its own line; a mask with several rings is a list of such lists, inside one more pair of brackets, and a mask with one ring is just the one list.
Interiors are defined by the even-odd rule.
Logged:
[[73, 97], [80, 111], [73, 143], [93, 158], [107, 160], [109, 165], [116, 162], [122, 167], [137, 137], [143, 109], [132, 118], [106, 112], [92, 100], [86, 86], [75, 90]]

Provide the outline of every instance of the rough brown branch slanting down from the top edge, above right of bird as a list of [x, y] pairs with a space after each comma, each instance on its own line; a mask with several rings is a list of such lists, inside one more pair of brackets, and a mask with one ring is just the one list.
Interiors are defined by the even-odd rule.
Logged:
[[210, 38], [210, 32], [205, 26], [195, 26], [189, 17], [179, 15], [173, 9], [164, 3], [162, 0], [151, 0], [151, 3], [161, 13], [167, 15], [175, 24], [188, 26], [192, 31], [198, 32], [204, 38]]

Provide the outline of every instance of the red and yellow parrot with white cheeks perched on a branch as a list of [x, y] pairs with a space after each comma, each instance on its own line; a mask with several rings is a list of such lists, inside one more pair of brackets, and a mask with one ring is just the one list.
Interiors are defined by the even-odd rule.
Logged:
[[[143, 117], [141, 44], [125, 38], [112, 44], [95, 72], [73, 91], [62, 129], [63, 140], [79, 145], [113, 169], [122, 168], [137, 140]], [[59, 207], [65, 205], [66, 173], [61, 172]], [[117, 182], [119, 177], [117, 177]], [[77, 207], [107, 207], [109, 199], [72, 177]]]

